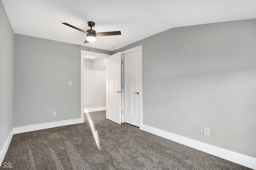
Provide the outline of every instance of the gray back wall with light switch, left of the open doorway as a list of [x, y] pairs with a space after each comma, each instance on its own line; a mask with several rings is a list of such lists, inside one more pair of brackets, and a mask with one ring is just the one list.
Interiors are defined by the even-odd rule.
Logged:
[[80, 118], [81, 50], [88, 47], [14, 34], [14, 127]]

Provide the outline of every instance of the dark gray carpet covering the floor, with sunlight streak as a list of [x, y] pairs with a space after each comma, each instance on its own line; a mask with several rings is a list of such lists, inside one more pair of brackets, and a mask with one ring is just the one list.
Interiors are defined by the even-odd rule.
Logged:
[[84, 123], [16, 134], [3, 163], [12, 170], [249, 169], [105, 117], [91, 112]]

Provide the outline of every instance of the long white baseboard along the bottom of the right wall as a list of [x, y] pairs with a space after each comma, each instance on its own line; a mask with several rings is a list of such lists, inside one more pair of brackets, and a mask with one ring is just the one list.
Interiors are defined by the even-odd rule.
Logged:
[[147, 131], [149, 133], [153, 133], [154, 135], [158, 135], [160, 137], [164, 137], [166, 139], [172, 140], [174, 142], [180, 143], [182, 145], [186, 145], [188, 147], [192, 147], [197, 150], [201, 150], [203, 152], [218, 156], [220, 158], [235, 162], [237, 164], [246, 166], [248, 168], [252, 168], [256, 170], [256, 158], [247, 156], [244, 154], [240, 154], [237, 152], [233, 152], [230, 150], [222, 149], [219, 147], [215, 147], [213, 145], [209, 145], [206, 143], [202, 143], [193, 139], [189, 139], [186, 137], [182, 137], [180, 135], [176, 135], [167, 131], [163, 131], [160, 129], [156, 129], [154, 127], [150, 127], [147, 125], [140, 125], [140, 129], [143, 131]]

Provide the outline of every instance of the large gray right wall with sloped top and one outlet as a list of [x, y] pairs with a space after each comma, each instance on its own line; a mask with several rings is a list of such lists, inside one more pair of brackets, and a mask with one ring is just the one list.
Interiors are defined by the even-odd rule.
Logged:
[[172, 28], [113, 54], [138, 45], [143, 124], [256, 158], [256, 20]]

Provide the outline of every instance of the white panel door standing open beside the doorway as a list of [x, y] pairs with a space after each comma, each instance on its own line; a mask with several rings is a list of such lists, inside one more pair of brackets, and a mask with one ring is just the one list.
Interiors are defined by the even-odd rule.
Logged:
[[106, 59], [106, 118], [121, 124], [121, 52]]

